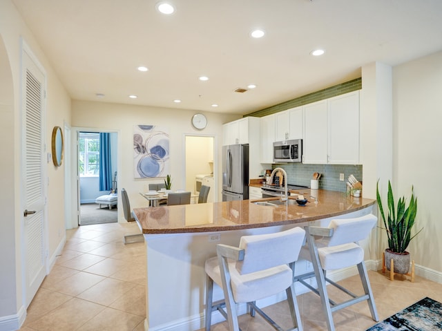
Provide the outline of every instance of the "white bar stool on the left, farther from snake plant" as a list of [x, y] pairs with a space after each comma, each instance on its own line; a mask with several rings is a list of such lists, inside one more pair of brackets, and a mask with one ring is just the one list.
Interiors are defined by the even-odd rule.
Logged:
[[[293, 283], [294, 263], [305, 243], [305, 230], [294, 227], [273, 234], [242, 236], [238, 247], [218, 244], [217, 256], [206, 260], [205, 330], [211, 327], [212, 312], [218, 310], [229, 323], [230, 331], [240, 330], [237, 303], [247, 303], [251, 316], [258, 312], [276, 330], [282, 330], [262, 312], [256, 301], [285, 291], [294, 327], [302, 323]], [[220, 286], [224, 299], [213, 302], [213, 283]], [[225, 308], [225, 310], [224, 310]]]

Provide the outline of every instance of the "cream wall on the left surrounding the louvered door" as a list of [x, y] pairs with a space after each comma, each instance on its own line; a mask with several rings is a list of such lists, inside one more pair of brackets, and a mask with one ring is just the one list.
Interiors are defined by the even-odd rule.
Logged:
[[[0, 199], [1, 290], [0, 330], [17, 324], [25, 314], [22, 283], [23, 195], [21, 188], [21, 108], [20, 73], [21, 40], [44, 67], [47, 75], [46, 148], [50, 150], [54, 126], [70, 123], [70, 97], [46, 59], [37, 41], [9, 0], [0, 1], [0, 122], [3, 142], [0, 162], [3, 195]], [[4, 44], [4, 47], [3, 47]], [[6, 52], [5, 52], [6, 50]], [[65, 159], [66, 160], [66, 159]], [[57, 248], [65, 238], [64, 166], [48, 162], [47, 210], [48, 258], [53, 261]], [[3, 178], [4, 176], [4, 178]], [[3, 240], [4, 239], [4, 240]], [[7, 272], [4, 272], [7, 271]], [[10, 329], [12, 330], [12, 329]]]

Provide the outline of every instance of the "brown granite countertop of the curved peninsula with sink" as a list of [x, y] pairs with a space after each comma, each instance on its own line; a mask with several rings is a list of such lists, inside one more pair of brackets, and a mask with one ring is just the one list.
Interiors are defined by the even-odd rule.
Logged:
[[[208, 202], [169, 207], [135, 208], [133, 212], [143, 234], [182, 234], [230, 231], [308, 222], [338, 216], [374, 205], [376, 200], [354, 198], [343, 192], [301, 189], [307, 205], [261, 206], [251, 201]], [[317, 195], [317, 202], [310, 194]], [[296, 198], [292, 196], [291, 198]]]

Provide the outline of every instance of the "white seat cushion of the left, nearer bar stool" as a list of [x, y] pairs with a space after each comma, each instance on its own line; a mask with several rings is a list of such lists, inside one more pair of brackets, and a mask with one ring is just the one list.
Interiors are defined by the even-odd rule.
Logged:
[[[209, 258], [205, 265], [206, 273], [222, 288], [218, 257]], [[236, 261], [229, 262], [233, 299], [236, 302], [252, 302], [282, 292], [293, 281], [288, 265], [273, 267], [260, 272], [240, 274], [236, 269]]]

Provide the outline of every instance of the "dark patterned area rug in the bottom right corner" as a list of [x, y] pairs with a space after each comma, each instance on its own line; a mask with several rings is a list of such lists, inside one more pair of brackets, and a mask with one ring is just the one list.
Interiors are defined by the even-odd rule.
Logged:
[[442, 303], [426, 297], [401, 310], [366, 331], [436, 331], [442, 330]]

